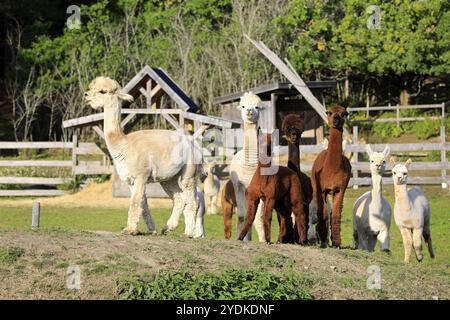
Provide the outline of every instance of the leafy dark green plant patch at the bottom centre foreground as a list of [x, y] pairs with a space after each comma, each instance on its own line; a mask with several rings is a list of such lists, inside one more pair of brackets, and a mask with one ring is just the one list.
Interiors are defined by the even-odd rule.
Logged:
[[139, 277], [118, 280], [122, 299], [313, 299], [307, 286], [311, 280], [293, 270], [277, 275], [265, 270], [226, 269], [194, 274], [189, 271], [161, 270], [153, 279]]

